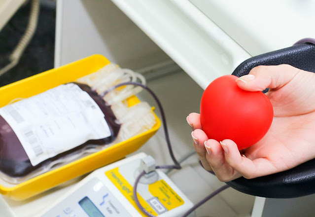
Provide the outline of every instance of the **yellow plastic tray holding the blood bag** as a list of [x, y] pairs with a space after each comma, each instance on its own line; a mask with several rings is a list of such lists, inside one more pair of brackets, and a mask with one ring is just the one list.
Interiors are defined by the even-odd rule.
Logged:
[[[70, 63], [57, 69], [52, 69], [28, 77], [0, 88], [0, 107], [7, 105], [11, 100], [22, 97], [27, 98], [60, 84], [76, 80], [84, 75], [96, 72], [110, 62], [102, 55], [93, 55], [82, 60]], [[139, 103], [133, 96], [128, 99], [129, 106]], [[155, 114], [154, 114], [155, 115]], [[124, 158], [140, 148], [161, 126], [161, 121], [155, 115], [156, 124], [151, 130], [137, 135], [124, 142], [111, 145], [108, 148], [90, 154], [33, 179], [16, 184], [13, 187], [0, 185], [0, 193], [13, 200], [24, 200], [60, 183], [71, 180], [97, 168]]]

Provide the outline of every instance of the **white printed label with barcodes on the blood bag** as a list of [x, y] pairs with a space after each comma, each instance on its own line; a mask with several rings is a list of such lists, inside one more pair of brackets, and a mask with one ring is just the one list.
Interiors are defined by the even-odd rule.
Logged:
[[105, 115], [76, 84], [63, 84], [0, 108], [33, 166], [88, 140], [111, 135]]

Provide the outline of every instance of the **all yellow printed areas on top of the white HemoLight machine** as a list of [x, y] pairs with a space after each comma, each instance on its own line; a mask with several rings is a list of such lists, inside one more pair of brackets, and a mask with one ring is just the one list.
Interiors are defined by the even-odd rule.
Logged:
[[[119, 168], [117, 167], [106, 171], [105, 175], [137, 209], [137, 211], [143, 217], [146, 217], [140, 211], [135, 202], [133, 196], [133, 186], [119, 173]], [[152, 184], [148, 184], [148, 192], [152, 194], [152, 196], [150, 198], [146, 198], [147, 200], [144, 200], [139, 193], [137, 193], [137, 196], [142, 207], [154, 216], [158, 216], [158, 214], [162, 214], [184, 204], [184, 201], [164, 180], [159, 180]]]

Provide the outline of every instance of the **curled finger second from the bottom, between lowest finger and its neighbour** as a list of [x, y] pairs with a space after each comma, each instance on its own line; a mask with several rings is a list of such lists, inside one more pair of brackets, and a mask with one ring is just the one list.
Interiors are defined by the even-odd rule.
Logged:
[[226, 182], [241, 177], [241, 175], [225, 161], [224, 151], [220, 143], [211, 139], [205, 143], [205, 147], [207, 149], [207, 160], [220, 181]]

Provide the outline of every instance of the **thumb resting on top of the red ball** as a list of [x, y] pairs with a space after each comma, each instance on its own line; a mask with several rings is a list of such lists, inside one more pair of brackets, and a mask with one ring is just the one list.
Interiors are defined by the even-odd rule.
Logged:
[[279, 89], [289, 83], [302, 70], [290, 65], [257, 66], [249, 74], [236, 79], [238, 86], [247, 91]]

